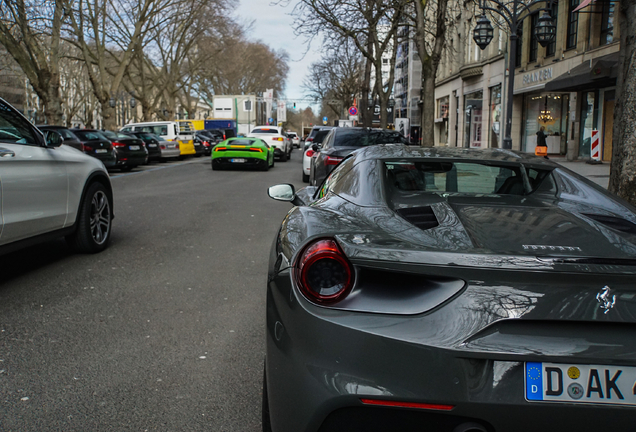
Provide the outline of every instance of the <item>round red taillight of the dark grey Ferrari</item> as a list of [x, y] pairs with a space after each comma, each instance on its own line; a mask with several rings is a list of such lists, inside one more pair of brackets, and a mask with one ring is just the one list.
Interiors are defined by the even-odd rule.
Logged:
[[300, 290], [314, 303], [337, 303], [353, 288], [353, 266], [333, 239], [310, 244], [296, 267]]

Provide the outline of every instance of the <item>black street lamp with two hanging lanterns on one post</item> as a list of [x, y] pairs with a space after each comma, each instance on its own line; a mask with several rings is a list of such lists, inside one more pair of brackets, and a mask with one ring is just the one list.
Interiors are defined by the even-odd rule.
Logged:
[[503, 17], [508, 25], [510, 50], [508, 51], [508, 97], [506, 98], [506, 131], [502, 143], [505, 149], [512, 149], [512, 98], [515, 90], [515, 60], [517, 58], [517, 30], [523, 24], [523, 20], [530, 16], [530, 9], [534, 6], [545, 3], [542, 9], [543, 15], [537, 21], [535, 34], [537, 41], [545, 47], [555, 37], [556, 25], [550, 16], [551, 0], [479, 0], [479, 7], [482, 15], [477, 20], [477, 26], [473, 30], [473, 40], [482, 50], [485, 49], [492, 40], [492, 25], [485, 12], [491, 11]]

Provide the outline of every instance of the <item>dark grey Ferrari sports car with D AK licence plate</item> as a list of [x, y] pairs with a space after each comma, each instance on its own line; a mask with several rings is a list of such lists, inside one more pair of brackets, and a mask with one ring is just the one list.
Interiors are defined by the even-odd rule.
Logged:
[[269, 194], [297, 207], [270, 254], [263, 430], [633, 428], [633, 206], [534, 155], [398, 145]]

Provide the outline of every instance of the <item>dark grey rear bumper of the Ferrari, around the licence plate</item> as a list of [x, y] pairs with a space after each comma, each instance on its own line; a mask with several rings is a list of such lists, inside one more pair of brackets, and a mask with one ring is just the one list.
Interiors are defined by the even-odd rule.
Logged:
[[[285, 272], [267, 290], [266, 373], [275, 432], [453, 432], [471, 423], [489, 432], [633, 429], [634, 407], [526, 401], [522, 356], [479, 358], [444, 346], [444, 332], [437, 340], [426, 336], [426, 327], [458, 331], [462, 320], [470, 321], [468, 310], [461, 317], [461, 304], [450, 312], [447, 305], [424, 315], [384, 316], [379, 321], [386, 325], [379, 325], [373, 315], [326, 310], [290, 291]], [[378, 407], [361, 399], [453, 408]]]

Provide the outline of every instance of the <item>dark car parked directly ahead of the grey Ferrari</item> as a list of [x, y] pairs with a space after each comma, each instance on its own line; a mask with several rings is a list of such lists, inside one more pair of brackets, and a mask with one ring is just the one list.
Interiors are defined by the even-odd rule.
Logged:
[[318, 153], [311, 160], [309, 184], [318, 186], [345, 156], [361, 147], [375, 144], [408, 145], [408, 141], [399, 132], [392, 130], [333, 128], [324, 138], [322, 145], [312, 143], [312, 149]]

